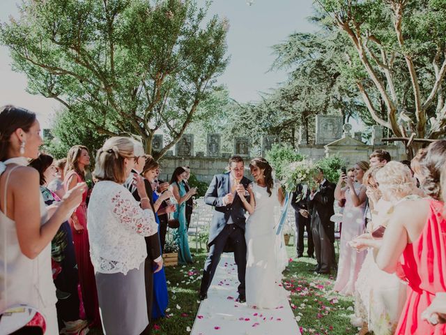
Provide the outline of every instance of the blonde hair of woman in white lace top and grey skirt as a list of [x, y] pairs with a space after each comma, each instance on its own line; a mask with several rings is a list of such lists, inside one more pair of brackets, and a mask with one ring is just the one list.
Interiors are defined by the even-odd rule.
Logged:
[[130, 137], [111, 137], [105, 141], [96, 154], [93, 177], [123, 184], [127, 179], [125, 158], [133, 157], [133, 142]]

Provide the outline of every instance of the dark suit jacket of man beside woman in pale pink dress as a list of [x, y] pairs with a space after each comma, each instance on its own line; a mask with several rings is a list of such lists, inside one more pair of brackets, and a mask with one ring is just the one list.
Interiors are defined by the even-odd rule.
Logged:
[[334, 223], [330, 221], [330, 218], [334, 215], [334, 188], [336, 188], [336, 184], [330, 183], [330, 181], [325, 179], [319, 191], [314, 195], [313, 200], [309, 200], [308, 202], [309, 209], [312, 212], [312, 225], [317, 212], [325, 234], [328, 235], [328, 238], [332, 242], [334, 241]]

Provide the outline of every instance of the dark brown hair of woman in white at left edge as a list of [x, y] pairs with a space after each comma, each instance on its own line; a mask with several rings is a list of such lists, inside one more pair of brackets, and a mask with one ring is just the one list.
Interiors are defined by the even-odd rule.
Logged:
[[36, 114], [24, 108], [6, 105], [0, 107], [0, 161], [8, 158], [10, 137], [21, 128], [25, 133], [36, 122]]

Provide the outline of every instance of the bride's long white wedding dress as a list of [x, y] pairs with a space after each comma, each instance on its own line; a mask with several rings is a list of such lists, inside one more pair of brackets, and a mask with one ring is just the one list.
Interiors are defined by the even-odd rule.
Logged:
[[277, 245], [282, 236], [276, 235], [277, 223], [274, 215], [275, 208], [280, 206], [278, 188], [274, 184], [269, 195], [266, 187], [254, 183], [252, 191], [256, 205], [254, 213], [247, 219], [245, 231], [246, 302], [256, 308], [277, 308], [284, 304], [286, 298], [286, 290], [280, 281], [284, 262], [279, 260], [283, 255], [278, 255], [280, 248]]

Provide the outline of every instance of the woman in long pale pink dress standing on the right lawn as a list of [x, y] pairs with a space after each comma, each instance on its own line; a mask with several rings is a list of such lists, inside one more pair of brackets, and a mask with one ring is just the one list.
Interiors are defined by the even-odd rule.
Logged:
[[[345, 199], [344, 214], [342, 217], [342, 234], [339, 251], [339, 265], [334, 291], [341, 295], [353, 295], [355, 283], [362, 262], [364, 262], [365, 251], [357, 253], [348, 246], [348, 242], [362, 234], [365, 230], [364, 209], [367, 195], [366, 187], [362, 184], [364, 172], [369, 170], [369, 163], [360, 161], [355, 164], [354, 178], [341, 173], [336, 188], [334, 198], [336, 200]], [[356, 181], [354, 181], [356, 180]], [[342, 184], [346, 186], [343, 188]]]

